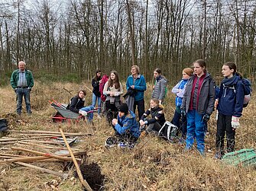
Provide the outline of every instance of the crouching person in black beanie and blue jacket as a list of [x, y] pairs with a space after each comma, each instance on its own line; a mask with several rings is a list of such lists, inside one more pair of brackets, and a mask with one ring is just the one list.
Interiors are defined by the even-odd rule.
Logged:
[[122, 103], [118, 108], [118, 119], [113, 119], [112, 125], [115, 129], [115, 135], [119, 139], [118, 145], [120, 147], [132, 147], [141, 135], [135, 114], [128, 110], [127, 103]]

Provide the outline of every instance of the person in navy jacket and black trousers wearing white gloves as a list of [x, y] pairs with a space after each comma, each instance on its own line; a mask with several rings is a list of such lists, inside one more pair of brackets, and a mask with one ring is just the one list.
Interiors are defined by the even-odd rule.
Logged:
[[234, 62], [227, 62], [222, 66], [224, 79], [220, 85], [219, 99], [215, 101], [215, 106], [219, 111], [217, 119], [216, 133], [216, 154], [215, 158], [222, 158], [224, 151], [224, 138], [226, 134], [227, 152], [235, 150], [235, 129], [240, 126], [244, 103], [244, 86], [241, 75], [236, 72]]

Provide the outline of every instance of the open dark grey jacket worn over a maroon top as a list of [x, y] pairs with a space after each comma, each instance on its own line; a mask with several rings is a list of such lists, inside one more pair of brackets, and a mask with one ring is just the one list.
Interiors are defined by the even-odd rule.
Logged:
[[[192, 91], [193, 91], [193, 81], [196, 80], [196, 75], [193, 75], [191, 78], [189, 78], [189, 81], [186, 84], [186, 89], [183, 95], [182, 104], [180, 107], [180, 110], [186, 110], [186, 113], [188, 110], [190, 110], [190, 101], [193, 97]], [[212, 114], [212, 111], [214, 109], [214, 102], [215, 102], [215, 82], [212, 80], [212, 77], [209, 75], [209, 73], [206, 73], [205, 78], [203, 78], [203, 83], [201, 88], [199, 89], [199, 97], [197, 97], [197, 108], [196, 111], [199, 114]]]

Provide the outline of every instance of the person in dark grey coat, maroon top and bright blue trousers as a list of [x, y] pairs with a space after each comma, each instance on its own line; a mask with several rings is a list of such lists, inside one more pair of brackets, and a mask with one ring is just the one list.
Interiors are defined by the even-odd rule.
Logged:
[[196, 60], [194, 75], [186, 84], [180, 112], [187, 119], [186, 150], [190, 150], [196, 138], [197, 150], [205, 154], [205, 128], [214, 109], [215, 82], [206, 72], [206, 62]]

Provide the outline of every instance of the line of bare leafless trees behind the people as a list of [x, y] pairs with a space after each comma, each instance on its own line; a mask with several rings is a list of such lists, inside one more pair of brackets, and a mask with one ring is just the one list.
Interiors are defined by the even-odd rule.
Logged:
[[121, 78], [139, 65], [147, 81], [170, 81], [205, 59], [212, 76], [234, 61], [254, 81], [254, 0], [16, 0], [0, 3], [0, 69], [18, 60], [34, 73], [90, 79], [96, 68]]

